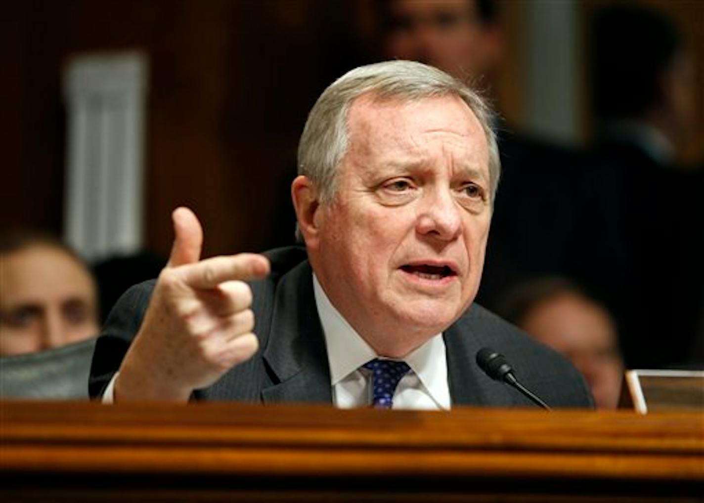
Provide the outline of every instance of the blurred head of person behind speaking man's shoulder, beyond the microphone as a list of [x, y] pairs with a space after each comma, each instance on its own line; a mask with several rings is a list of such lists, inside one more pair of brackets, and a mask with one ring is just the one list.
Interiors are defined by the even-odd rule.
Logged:
[[598, 409], [615, 409], [624, 366], [609, 312], [569, 279], [546, 277], [515, 286], [498, 314], [567, 356], [586, 379]]

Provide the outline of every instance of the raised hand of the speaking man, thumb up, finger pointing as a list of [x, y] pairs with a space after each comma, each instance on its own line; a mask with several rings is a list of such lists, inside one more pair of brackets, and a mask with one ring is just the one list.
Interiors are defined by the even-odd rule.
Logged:
[[269, 261], [240, 253], [200, 260], [203, 229], [191, 210], [172, 214], [175, 239], [142, 327], [115, 381], [115, 401], [188, 400], [258, 348], [252, 293]]

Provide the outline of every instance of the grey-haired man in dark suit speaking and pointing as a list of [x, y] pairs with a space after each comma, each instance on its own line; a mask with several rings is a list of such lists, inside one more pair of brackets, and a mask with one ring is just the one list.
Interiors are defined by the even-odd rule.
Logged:
[[108, 318], [92, 394], [527, 405], [474, 364], [492, 345], [547, 402], [592, 405], [565, 359], [472, 305], [500, 169], [477, 94], [420, 63], [352, 70], [311, 110], [298, 166], [306, 249], [199, 260], [200, 224], [176, 210], [168, 266]]

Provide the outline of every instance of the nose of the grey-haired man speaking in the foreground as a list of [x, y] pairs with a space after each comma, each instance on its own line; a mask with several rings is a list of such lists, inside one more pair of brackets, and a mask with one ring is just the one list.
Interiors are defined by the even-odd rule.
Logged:
[[462, 229], [460, 208], [449, 189], [428, 191], [422, 198], [417, 231], [441, 241], [452, 241]]

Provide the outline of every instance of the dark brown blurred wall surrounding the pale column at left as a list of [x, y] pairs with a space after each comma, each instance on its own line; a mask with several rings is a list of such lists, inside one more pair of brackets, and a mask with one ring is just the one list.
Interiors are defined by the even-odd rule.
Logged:
[[142, 49], [151, 74], [147, 246], [168, 254], [177, 205], [201, 217], [206, 255], [292, 241], [287, 186], [306, 115], [334, 77], [361, 62], [346, 2], [6, 0], [0, 8], [0, 228], [61, 232], [63, 63]]

